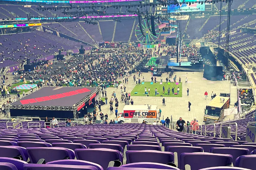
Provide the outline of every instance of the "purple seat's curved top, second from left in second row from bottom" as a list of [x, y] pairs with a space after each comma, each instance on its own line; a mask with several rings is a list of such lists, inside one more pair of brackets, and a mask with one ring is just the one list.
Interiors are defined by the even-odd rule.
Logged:
[[103, 168], [101, 167], [101, 165], [98, 165], [96, 163], [93, 162], [88, 162], [88, 161], [82, 161], [82, 160], [76, 160], [76, 159], [64, 159], [64, 160], [58, 160], [58, 161], [52, 161], [52, 162], [48, 162], [46, 164], [57, 164], [57, 165], [86, 165], [86, 166], [94, 166], [96, 167], [98, 170], [103, 170]]

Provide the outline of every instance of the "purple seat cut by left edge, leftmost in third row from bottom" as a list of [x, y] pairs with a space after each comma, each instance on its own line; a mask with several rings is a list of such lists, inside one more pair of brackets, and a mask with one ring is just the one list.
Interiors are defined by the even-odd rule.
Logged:
[[15, 158], [23, 161], [28, 159], [25, 148], [19, 146], [0, 146], [0, 157]]

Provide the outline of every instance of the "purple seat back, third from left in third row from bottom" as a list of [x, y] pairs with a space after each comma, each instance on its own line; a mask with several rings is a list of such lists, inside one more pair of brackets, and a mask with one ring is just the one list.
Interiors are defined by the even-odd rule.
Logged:
[[104, 170], [107, 169], [111, 161], [114, 161], [113, 164], [115, 164], [115, 166], [121, 166], [121, 162], [123, 162], [121, 153], [113, 149], [75, 149], [75, 156], [78, 160], [99, 164]]

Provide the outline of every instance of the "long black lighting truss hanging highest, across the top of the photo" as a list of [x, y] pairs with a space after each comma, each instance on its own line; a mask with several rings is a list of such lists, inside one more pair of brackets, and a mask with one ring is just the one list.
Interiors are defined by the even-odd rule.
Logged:
[[[203, 4], [203, 3], [209, 3], [209, 4], [211, 4], [211, 3], [215, 3], [215, 2], [221, 2], [221, 1], [223, 1], [223, 0], [205, 0], [205, 1], [193, 1], [193, 2], [190, 2], [191, 4], [196, 4], [196, 3], [201, 3], [201, 4]], [[224, 1], [225, 2], [225, 1]], [[156, 6], [156, 5], [182, 5], [182, 4], [186, 4], [186, 3], [188, 3], [188, 2], [185, 2], [185, 1], [183, 1], [183, 2], [164, 2], [164, 3], [146, 3], [146, 4], [134, 4], [134, 5], [90, 5], [90, 6], [63, 6], [63, 7], [50, 7], [50, 8], [46, 8], [46, 7], [39, 7], [39, 8], [36, 8], [36, 9], [38, 9], [38, 10], [59, 10], [59, 9], [77, 9], [77, 8], [120, 8], [120, 7], [126, 7], [126, 8], [128, 8], [128, 7], [136, 7], [136, 6], [138, 6], [138, 7], [140, 7], [140, 6], [152, 6], [153, 5], [153, 7], [154, 6]]]

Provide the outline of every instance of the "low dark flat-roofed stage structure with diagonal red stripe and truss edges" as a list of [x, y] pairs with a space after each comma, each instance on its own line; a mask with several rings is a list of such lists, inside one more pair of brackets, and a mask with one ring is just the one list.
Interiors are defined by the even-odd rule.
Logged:
[[99, 87], [43, 87], [6, 107], [14, 117], [77, 118], [78, 111], [87, 114], [85, 108], [98, 99], [99, 90]]

